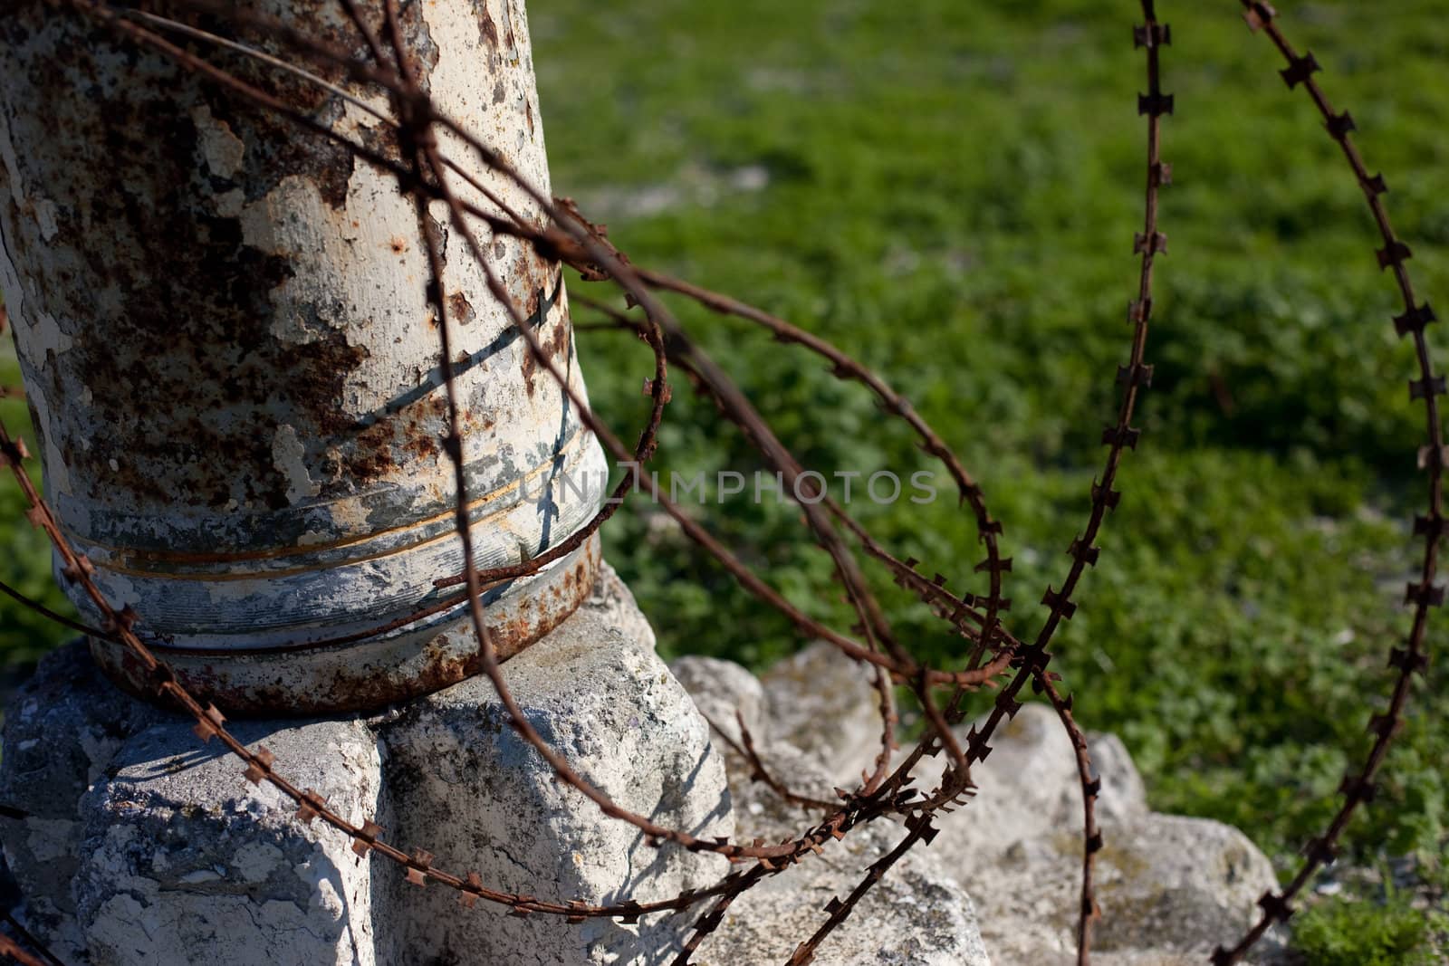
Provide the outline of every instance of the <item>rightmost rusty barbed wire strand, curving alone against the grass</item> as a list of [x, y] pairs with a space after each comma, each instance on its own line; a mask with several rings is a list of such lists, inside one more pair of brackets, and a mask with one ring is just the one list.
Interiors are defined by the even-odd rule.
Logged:
[[1303, 866], [1279, 892], [1271, 889], [1264, 892], [1258, 899], [1258, 905], [1262, 910], [1258, 921], [1232, 947], [1219, 946], [1213, 950], [1213, 966], [1229, 966], [1239, 962], [1275, 923], [1288, 921], [1294, 912], [1293, 899], [1303, 891], [1320, 866], [1329, 865], [1337, 857], [1337, 840], [1348, 827], [1353, 812], [1358, 811], [1359, 805], [1372, 801], [1375, 794], [1374, 776], [1384, 763], [1394, 736], [1404, 723], [1403, 713], [1408, 702], [1410, 689], [1413, 688], [1413, 678], [1416, 673], [1426, 673], [1429, 668], [1424, 634], [1429, 626], [1429, 611], [1440, 607], [1445, 600], [1445, 588], [1442, 585], [1436, 587], [1435, 578], [1439, 568], [1439, 543], [1449, 533], [1443, 508], [1443, 469], [1449, 452], [1446, 452], [1443, 443], [1437, 403], [1437, 397], [1445, 395], [1446, 385], [1445, 377], [1435, 375], [1433, 372], [1429, 356], [1429, 340], [1424, 337], [1424, 327], [1436, 319], [1429, 303], [1420, 303], [1414, 295], [1414, 285], [1408, 277], [1408, 268], [1404, 265], [1411, 252], [1394, 233], [1394, 226], [1388, 219], [1388, 209], [1384, 206], [1382, 196], [1388, 191], [1388, 185], [1384, 182], [1384, 175], [1371, 175], [1368, 167], [1364, 164], [1364, 156], [1350, 136], [1355, 130], [1353, 117], [1346, 110], [1342, 113], [1335, 112], [1319, 81], [1314, 78], [1314, 74], [1323, 68], [1317, 58], [1313, 56], [1313, 52], [1304, 51], [1301, 56], [1297, 54], [1278, 28], [1278, 12], [1271, 3], [1256, 0], [1240, 0], [1240, 3], [1243, 6], [1243, 19], [1248, 22], [1249, 29], [1255, 33], [1259, 30], [1266, 33], [1288, 62], [1288, 67], [1278, 72], [1288, 85], [1288, 90], [1303, 85], [1310, 100], [1313, 100], [1314, 107], [1317, 107], [1319, 114], [1323, 117], [1329, 136], [1343, 151], [1343, 156], [1353, 171], [1353, 177], [1364, 193], [1365, 201], [1368, 201], [1369, 213], [1374, 216], [1374, 223], [1384, 240], [1384, 248], [1377, 252], [1378, 266], [1379, 271], [1385, 268], [1394, 271], [1394, 281], [1404, 303], [1403, 314], [1394, 316], [1394, 332], [1400, 339], [1404, 336], [1413, 339], [1414, 358], [1419, 364], [1419, 378], [1408, 382], [1408, 398], [1410, 401], [1423, 400], [1424, 403], [1426, 436], [1429, 442], [1419, 450], [1419, 468], [1429, 472], [1429, 513], [1414, 517], [1414, 536], [1424, 537], [1420, 579], [1410, 582], [1404, 592], [1404, 602], [1414, 605], [1414, 617], [1406, 646], [1395, 646], [1390, 652], [1388, 666], [1397, 669], [1397, 673], [1388, 700], [1388, 710], [1375, 713], [1369, 718], [1368, 730], [1374, 734], [1374, 742], [1368, 756], [1358, 770], [1349, 770], [1343, 778], [1339, 786], [1343, 802], [1324, 833], [1304, 846]]

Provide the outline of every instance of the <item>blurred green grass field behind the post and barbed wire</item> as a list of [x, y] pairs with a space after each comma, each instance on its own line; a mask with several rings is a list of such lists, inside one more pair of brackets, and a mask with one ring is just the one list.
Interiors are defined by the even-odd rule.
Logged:
[[[1279, 6], [1352, 109], [1416, 280], [1442, 301], [1442, 0]], [[1126, 361], [1143, 182], [1136, 7], [530, 4], [555, 193], [607, 222], [635, 261], [785, 316], [903, 388], [1006, 523], [1022, 634], [1039, 626], [1035, 602], [1059, 584], [1085, 520]], [[1366, 747], [1390, 684], [1384, 658], [1408, 624], [1397, 601], [1417, 559], [1408, 520], [1424, 503], [1421, 417], [1404, 388], [1416, 372], [1392, 335], [1394, 288], [1362, 197], [1307, 98], [1277, 77], [1277, 52], [1230, 0], [1159, 7], [1178, 113], [1165, 123], [1175, 184], [1149, 342], [1156, 379], [1055, 666], [1080, 718], [1123, 736], [1155, 807], [1232, 821], [1287, 863]], [[675, 308], [807, 466], [930, 468], [903, 427], [814, 359]], [[581, 353], [597, 408], [620, 430], [638, 426], [648, 353], [603, 333], [582, 335]], [[0, 379], [16, 381], [12, 355]], [[0, 401], [0, 414], [13, 426], [23, 406]], [[758, 462], [681, 385], [659, 466], [691, 476]], [[981, 589], [971, 518], [940, 485], [932, 505], [852, 505], [898, 555]], [[14, 487], [0, 485], [0, 540], [13, 547], [0, 572], [54, 600], [45, 549], [19, 513]], [[849, 623], [797, 514], [739, 500], [701, 514], [807, 611]], [[801, 643], [646, 507], [607, 530], [607, 555], [671, 655], [759, 666]], [[959, 640], [881, 584], [901, 637], [956, 659]], [[7, 660], [61, 637], [0, 601]], [[1430, 637], [1442, 644], [1443, 620]], [[1436, 668], [1381, 804], [1353, 826], [1361, 863], [1442, 862], [1446, 711]]]

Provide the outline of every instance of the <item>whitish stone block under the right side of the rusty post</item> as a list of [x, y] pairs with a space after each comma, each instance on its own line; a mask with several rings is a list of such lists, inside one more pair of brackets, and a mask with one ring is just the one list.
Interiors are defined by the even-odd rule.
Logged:
[[[514, 700], [617, 804], [697, 836], [733, 834], [724, 765], [704, 720], [653, 655], [653, 634], [645, 637], [622, 614], [638, 611], [606, 578], [568, 621], [503, 666]], [[393, 798], [406, 802], [397, 810], [400, 840], [426, 843], [494, 888], [590, 904], [649, 901], [707, 886], [729, 870], [717, 856], [651, 847], [636, 827], [558, 781], [509, 727], [485, 678], [409, 704], [381, 734]], [[451, 892], [385, 875], [397, 923], [393, 962], [668, 962], [688, 927], [688, 917], [662, 915], [565, 927], [481, 902], [458, 915]]]

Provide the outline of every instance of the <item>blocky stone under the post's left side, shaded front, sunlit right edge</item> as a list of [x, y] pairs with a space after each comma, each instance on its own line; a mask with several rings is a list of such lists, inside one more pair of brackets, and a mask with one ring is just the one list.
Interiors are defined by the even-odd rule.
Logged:
[[[343, 815], [380, 807], [381, 757], [361, 721], [239, 723], [291, 781]], [[351, 840], [303, 826], [270, 785], [184, 721], [152, 726], [114, 756], [81, 804], [72, 892], [96, 966], [371, 966], [372, 869]], [[385, 962], [385, 960], [383, 960]]]

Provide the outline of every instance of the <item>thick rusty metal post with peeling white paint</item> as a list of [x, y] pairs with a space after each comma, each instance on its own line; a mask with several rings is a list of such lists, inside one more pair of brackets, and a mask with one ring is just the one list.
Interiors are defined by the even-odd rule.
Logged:
[[[361, 6], [380, 23], [380, 3]], [[252, 9], [367, 55], [341, 3]], [[548, 191], [522, 0], [401, 10], [439, 109]], [[396, 152], [356, 104], [170, 39]], [[341, 70], [322, 72], [346, 85]], [[190, 686], [230, 711], [375, 707], [471, 673], [477, 640], [458, 607], [367, 634], [440, 600], [433, 579], [461, 569], [438, 320], [413, 203], [396, 180], [51, 4], [0, 17], [0, 287], [46, 492], [99, 585], [141, 614], [138, 631]], [[388, 109], [375, 93], [367, 101]], [[542, 222], [525, 193], [480, 177]], [[446, 214], [436, 217], [478, 562], [516, 563], [593, 516], [604, 458]], [[490, 256], [582, 390], [559, 265], [507, 238]], [[590, 540], [490, 588], [500, 650], [567, 617], [597, 559]], [[139, 686], [119, 647], [91, 646], [113, 678]]]

